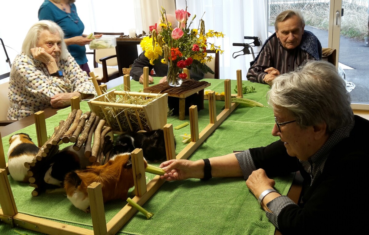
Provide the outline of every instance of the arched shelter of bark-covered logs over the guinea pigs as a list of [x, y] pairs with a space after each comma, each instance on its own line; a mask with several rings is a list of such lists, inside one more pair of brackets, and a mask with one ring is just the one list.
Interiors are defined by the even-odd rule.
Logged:
[[[61, 143], [75, 143], [73, 149], [79, 151], [85, 145], [85, 156], [94, 165], [105, 164], [113, 148], [113, 140], [107, 135], [111, 128], [105, 126], [105, 120], [100, 119], [94, 112], [74, 109], [67, 119], [61, 120], [54, 133], [39, 149], [32, 162], [25, 162], [28, 168], [30, 186], [35, 189], [32, 196], [38, 196], [46, 189], [44, 175], [50, 166], [51, 157], [59, 150]], [[93, 141], [92, 141], [93, 140]]]

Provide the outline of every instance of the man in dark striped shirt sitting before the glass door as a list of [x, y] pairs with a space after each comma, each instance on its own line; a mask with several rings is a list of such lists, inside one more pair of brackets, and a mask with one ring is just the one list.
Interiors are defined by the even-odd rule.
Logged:
[[274, 27], [275, 33], [250, 62], [246, 77], [252, 82], [270, 84], [276, 76], [293, 71], [305, 60], [322, 58], [322, 46], [312, 32], [304, 30], [300, 10], [283, 11], [276, 17]]

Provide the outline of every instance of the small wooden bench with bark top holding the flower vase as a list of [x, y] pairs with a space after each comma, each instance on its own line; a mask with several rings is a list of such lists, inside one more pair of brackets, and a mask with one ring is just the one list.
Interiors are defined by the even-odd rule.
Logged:
[[179, 120], [184, 120], [184, 112], [185, 112], [185, 100], [186, 97], [199, 92], [200, 95], [200, 102], [202, 107], [199, 109], [204, 108], [204, 88], [210, 86], [211, 83], [207, 81], [195, 81], [191, 79], [186, 79], [183, 81], [180, 87], [171, 87], [168, 85], [167, 82], [159, 83], [157, 85], [153, 85], [151, 87], [147, 87], [144, 89], [146, 93], [168, 93], [170, 97], [177, 97], [179, 98]]

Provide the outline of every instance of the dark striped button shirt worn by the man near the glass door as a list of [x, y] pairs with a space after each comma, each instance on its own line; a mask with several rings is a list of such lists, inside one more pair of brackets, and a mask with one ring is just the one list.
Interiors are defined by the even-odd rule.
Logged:
[[264, 70], [273, 67], [279, 70], [280, 74], [283, 74], [293, 71], [305, 60], [310, 59], [314, 59], [314, 57], [302, 50], [300, 46], [292, 50], [286, 50], [277, 36], [273, 36], [266, 45], [263, 46], [261, 52], [259, 52], [257, 60], [247, 72], [247, 78], [249, 81], [255, 83], [265, 83], [263, 78], [267, 73], [265, 73]]

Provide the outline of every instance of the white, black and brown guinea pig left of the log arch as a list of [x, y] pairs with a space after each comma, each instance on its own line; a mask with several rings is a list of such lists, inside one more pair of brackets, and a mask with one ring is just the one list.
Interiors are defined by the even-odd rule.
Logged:
[[28, 134], [18, 133], [9, 138], [8, 169], [14, 180], [28, 182], [28, 169], [24, 163], [31, 162], [38, 150]]

